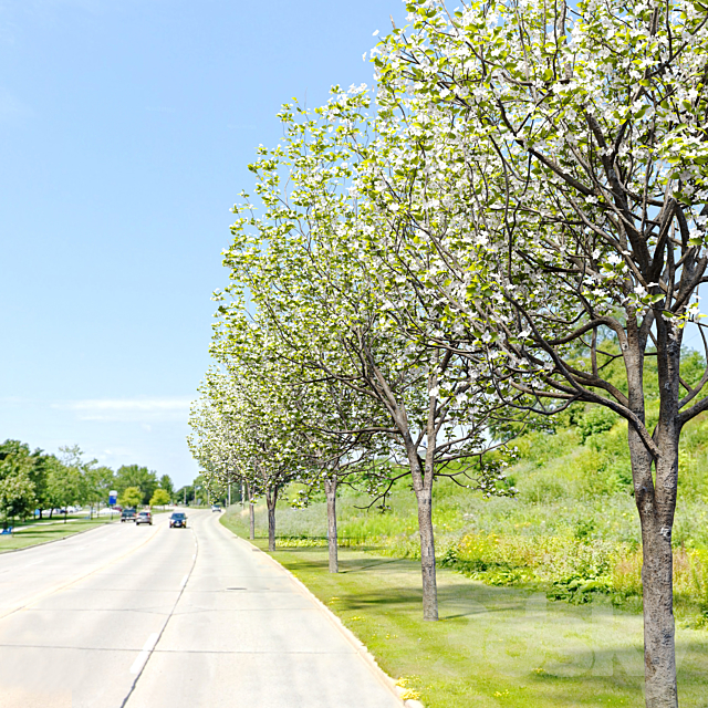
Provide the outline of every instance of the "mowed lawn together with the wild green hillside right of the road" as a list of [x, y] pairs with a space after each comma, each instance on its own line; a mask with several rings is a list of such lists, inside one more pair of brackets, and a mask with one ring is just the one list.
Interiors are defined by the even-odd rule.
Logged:
[[[329, 573], [323, 492], [278, 509], [272, 554], [350, 627], [427, 708], [643, 705], [641, 530], [624, 423], [575, 409], [554, 431], [514, 441], [517, 498], [486, 499], [449, 480], [434, 488], [440, 623], [419, 615], [415, 499], [398, 483], [388, 509], [340, 488], [340, 573]], [[708, 419], [680, 456], [674, 534], [681, 705], [702, 708], [708, 671]], [[248, 510], [223, 524], [249, 538]], [[264, 504], [256, 543], [268, 549]]]

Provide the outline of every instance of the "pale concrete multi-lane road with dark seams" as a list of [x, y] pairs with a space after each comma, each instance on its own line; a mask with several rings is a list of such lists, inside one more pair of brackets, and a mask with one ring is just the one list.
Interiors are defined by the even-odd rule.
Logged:
[[396, 708], [289, 573], [208, 511], [0, 555], [0, 708]]

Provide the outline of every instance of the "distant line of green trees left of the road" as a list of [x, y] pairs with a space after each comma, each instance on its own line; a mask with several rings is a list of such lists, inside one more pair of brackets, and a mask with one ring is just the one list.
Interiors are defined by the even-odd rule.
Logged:
[[52, 518], [55, 510], [71, 506], [88, 506], [93, 516], [108, 502], [108, 492], [116, 490], [118, 501], [134, 504], [166, 504], [175, 491], [169, 475], [159, 479], [155, 471], [138, 465], [124, 465], [113, 470], [85, 460], [79, 446], [64, 446], [59, 455], [32, 451], [20, 440], [0, 445], [0, 514], [7, 527], [11, 519], [27, 518], [37, 510], [39, 517]]

